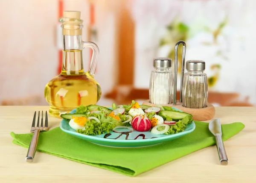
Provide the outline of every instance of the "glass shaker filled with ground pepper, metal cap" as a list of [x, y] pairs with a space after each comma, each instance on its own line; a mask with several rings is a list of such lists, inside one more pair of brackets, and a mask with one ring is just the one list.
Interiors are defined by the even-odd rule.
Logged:
[[182, 105], [187, 108], [207, 107], [208, 83], [202, 60], [186, 61], [187, 72], [183, 77]]

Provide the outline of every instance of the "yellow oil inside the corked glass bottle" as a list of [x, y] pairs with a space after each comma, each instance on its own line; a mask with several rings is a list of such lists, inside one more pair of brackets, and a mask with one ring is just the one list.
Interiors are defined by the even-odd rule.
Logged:
[[77, 106], [96, 104], [102, 94], [99, 83], [89, 72], [84, 73], [81, 50], [64, 50], [61, 74], [47, 83], [44, 96], [49, 114], [60, 117]]

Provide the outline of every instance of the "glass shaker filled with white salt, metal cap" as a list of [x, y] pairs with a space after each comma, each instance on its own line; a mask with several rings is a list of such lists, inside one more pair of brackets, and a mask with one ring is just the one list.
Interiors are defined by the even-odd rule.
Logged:
[[154, 71], [151, 71], [149, 85], [149, 102], [152, 104], [172, 103], [172, 59], [155, 58], [153, 59], [153, 66]]

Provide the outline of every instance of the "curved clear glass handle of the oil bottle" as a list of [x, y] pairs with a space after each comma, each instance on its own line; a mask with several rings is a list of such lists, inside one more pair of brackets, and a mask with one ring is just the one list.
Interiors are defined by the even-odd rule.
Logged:
[[94, 77], [95, 69], [97, 66], [98, 56], [99, 56], [99, 47], [93, 42], [84, 42], [83, 41], [83, 49], [90, 48], [93, 50], [93, 55], [90, 61], [89, 74]]

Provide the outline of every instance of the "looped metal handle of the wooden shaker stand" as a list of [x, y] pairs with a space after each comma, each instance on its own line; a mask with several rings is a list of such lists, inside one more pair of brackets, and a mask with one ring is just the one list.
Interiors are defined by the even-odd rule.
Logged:
[[182, 102], [182, 87], [183, 87], [183, 75], [185, 67], [185, 53], [186, 43], [184, 41], [178, 41], [175, 45], [175, 63], [174, 63], [174, 91], [173, 91], [173, 105], [176, 106], [176, 95], [177, 95], [177, 69], [178, 69], [178, 46], [183, 44], [182, 51], [182, 66], [181, 66], [181, 77], [180, 77], [180, 103]]

